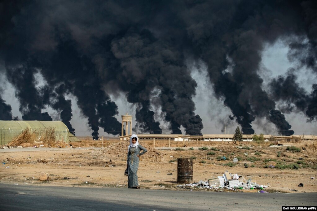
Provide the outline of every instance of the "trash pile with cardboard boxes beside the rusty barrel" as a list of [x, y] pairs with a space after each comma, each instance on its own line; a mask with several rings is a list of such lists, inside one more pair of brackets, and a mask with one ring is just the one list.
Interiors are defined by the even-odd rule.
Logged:
[[215, 179], [209, 179], [208, 181], [199, 181], [198, 183], [189, 183], [184, 185], [177, 185], [179, 188], [208, 188], [208, 189], [260, 189], [259, 192], [265, 193], [263, 189], [268, 188], [269, 186], [259, 185], [255, 180], [246, 179], [244, 176], [239, 176], [238, 174], [230, 174], [228, 171], [225, 171], [223, 176], [218, 176]]

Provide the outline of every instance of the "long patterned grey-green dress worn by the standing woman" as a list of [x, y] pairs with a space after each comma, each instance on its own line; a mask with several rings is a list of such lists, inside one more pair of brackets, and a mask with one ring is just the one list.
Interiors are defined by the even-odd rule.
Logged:
[[[141, 153], [140, 151], [143, 150]], [[139, 168], [139, 158], [137, 155], [143, 155], [147, 152], [147, 149], [141, 145], [137, 147], [130, 147], [128, 151], [128, 158], [126, 163], [128, 164], [128, 188], [134, 188], [139, 185], [137, 171]]]

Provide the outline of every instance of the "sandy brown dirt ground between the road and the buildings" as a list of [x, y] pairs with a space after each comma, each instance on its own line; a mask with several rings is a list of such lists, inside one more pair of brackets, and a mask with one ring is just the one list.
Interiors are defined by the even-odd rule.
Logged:
[[[94, 141], [94, 144], [97, 142]], [[100, 142], [99, 144], [101, 145]], [[140, 144], [148, 149], [140, 158], [138, 176], [141, 188], [189, 190], [176, 187], [176, 159], [193, 158], [194, 182], [217, 178], [227, 170], [255, 180], [260, 185], [269, 186], [266, 189], [268, 192], [317, 191], [317, 158], [314, 157], [317, 153], [314, 153], [312, 147], [316, 143], [311, 141], [287, 142], [282, 143], [283, 146], [268, 146], [268, 143], [263, 146], [254, 143], [206, 144], [172, 141], [171, 146], [185, 145], [186, 150], [157, 150], [152, 147], [152, 141], [140, 141]], [[127, 188], [124, 170], [128, 141], [105, 141], [104, 148], [79, 148], [88, 147], [87, 145], [92, 146], [82, 142], [73, 143], [72, 146], [76, 148], [66, 146], [69, 147], [68, 150], [57, 151], [6, 152], [3, 149], [0, 151], [0, 183]], [[156, 142], [156, 147], [166, 145], [168, 146], [168, 141]], [[201, 149], [188, 149], [191, 146]], [[290, 148], [291, 146], [296, 148]], [[208, 150], [204, 150], [206, 148]], [[296, 152], [299, 150], [300, 152]], [[234, 158], [239, 161], [233, 163]], [[39, 181], [40, 172], [47, 172], [49, 180]], [[299, 183], [303, 183], [303, 187], [299, 187]]]

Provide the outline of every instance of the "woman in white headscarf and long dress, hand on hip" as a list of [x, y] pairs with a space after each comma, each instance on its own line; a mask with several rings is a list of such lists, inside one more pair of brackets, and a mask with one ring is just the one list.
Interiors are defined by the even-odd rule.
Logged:
[[[141, 153], [140, 151], [143, 150]], [[128, 167], [128, 188], [140, 189], [138, 182], [137, 171], [139, 168], [139, 158], [146, 153], [147, 150], [139, 145], [138, 136], [133, 134], [130, 138], [130, 145], [128, 146], [128, 159], [126, 166]]]

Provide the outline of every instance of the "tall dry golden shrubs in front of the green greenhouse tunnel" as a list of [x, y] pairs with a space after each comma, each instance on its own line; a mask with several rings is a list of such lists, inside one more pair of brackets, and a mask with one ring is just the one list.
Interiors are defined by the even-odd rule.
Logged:
[[[34, 142], [41, 142], [44, 146], [55, 146], [55, 128], [54, 127], [45, 127], [41, 129], [31, 130], [31, 128], [26, 128], [23, 130], [22, 133], [17, 135], [12, 139], [9, 146], [33, 146], [39, 143]], [[59, 144], [60, 146], [61, 144]]]

